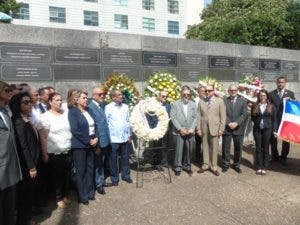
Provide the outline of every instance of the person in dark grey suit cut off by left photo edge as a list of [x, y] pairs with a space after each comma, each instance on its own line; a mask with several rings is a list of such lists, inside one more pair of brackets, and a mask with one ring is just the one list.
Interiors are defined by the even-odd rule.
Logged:
[[17, 183], [22, 179], [14, 129], [6, 110], [10, 86], [0, 81], [0, 224], [15, 224]]

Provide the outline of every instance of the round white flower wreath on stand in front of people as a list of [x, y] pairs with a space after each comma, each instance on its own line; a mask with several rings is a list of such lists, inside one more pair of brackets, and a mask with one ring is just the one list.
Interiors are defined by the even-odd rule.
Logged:
[[[149, 127], [146, 114], [156, 115], [158, 124], [154, 128]], [[169, 117], [165, 108], [155, 98], [141, 100], [132, 110], [130, 124], [138, 138], [145, 141], [161, 139], [168, 129]]]

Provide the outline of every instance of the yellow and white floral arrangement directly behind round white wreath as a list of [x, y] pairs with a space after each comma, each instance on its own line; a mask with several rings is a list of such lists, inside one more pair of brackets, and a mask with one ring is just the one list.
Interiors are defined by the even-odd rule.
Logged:
[[147, 80], [145, 97], [154, 97], [160, 91], [168, 92], [167, 101], [173, 102], [180, 98], [181, 84], [174, 74], [169, 72], [155, 72]]

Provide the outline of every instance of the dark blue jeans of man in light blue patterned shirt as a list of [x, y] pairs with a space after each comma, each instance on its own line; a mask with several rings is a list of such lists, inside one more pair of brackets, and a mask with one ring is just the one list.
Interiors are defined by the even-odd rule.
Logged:
[[110, 175], [111, 182], [119, 182], [118, 170], [118, 154], [121, 155], [121, 177], [123, 180], [130, 179], [130, 166], [129, 166], [129, 142], [112, 143], [110, 155]]

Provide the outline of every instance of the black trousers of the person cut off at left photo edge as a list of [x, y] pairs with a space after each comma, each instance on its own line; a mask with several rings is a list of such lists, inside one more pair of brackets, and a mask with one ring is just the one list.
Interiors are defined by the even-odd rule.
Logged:
[[15, 224], [17, 185], [0, 190], [0, 224]]

